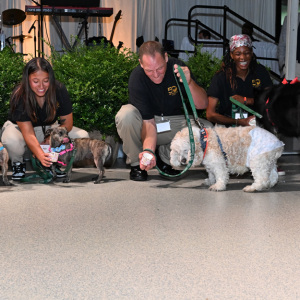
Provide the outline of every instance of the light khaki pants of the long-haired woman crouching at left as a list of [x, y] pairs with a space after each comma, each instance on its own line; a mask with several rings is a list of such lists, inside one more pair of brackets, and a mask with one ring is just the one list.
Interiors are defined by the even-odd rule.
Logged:
[[[45, 130], [50, 127], [57, 127], [58, 123], [54, 123], [51, 126], [46, 126]], [[44, 140], [44, 132], [41, 126], [34, 127], [34, 132], [37, 140], [41, 143]], [[70, 138], [86, 138], [89, 137], [87, 131], [73, 127], [69, 132]], [[12, 163], [24, 161], [23, 156], [27, 149], [25, 140], [21, 133], [20, 128], [17, 124], [12, 123], [11, 121], [6, 121], [2, 128], [2, 137], [1, 141], [3, 146], [7, 149], [9, 158]]]

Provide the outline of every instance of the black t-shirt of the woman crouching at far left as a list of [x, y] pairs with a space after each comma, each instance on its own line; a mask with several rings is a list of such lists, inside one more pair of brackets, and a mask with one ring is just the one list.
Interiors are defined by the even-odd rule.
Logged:
[[72, 112], [72, 103], [70, 100], [69, 93], [66, 87], [60, 82], [56, 82], [56, 101], [57, 101], [56, 116], [53, 118], [53, 120], [49, 122], [45, 122], [45, 119], [47, 118], [45, 104], [42, 108], [37, 106], [37, 111], [36, 111], [37, 122], [32, 122], [32, 120], [30, 119], [30, 117], [28, 116], [28, 114], [24, 109], [23, 99], [20, 99], [14, 112], [10, 113], [9, 120], [15, 124], [17, 121], [18, 122], [30, 121], [32, 122], [33, 127], [51, 125], [55, 123], [58, 117], [66, 116]]

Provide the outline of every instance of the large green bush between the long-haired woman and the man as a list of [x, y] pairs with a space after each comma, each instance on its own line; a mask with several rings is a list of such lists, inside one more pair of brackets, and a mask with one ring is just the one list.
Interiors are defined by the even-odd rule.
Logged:
[[116, 135], [115, 115], [128, 102], [128, 79], [138, 56], [102, 42], [89, 47], [80, 43], [63, 55], [53, 51], [49, 59], [70, 94], [75, 126]]

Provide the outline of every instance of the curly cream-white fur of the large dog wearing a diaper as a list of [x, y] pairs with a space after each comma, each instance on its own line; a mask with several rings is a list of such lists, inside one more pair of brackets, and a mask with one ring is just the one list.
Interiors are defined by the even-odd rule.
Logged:
[[[252, 172], [254, 182], [246, 186], [244, 192], [261, 191], [273, 187], [278, 181], [276, 162], [283, 151], [283, 144], [269, 152], [252, 157], [247, 167], [247, 154], [252, 142], [249, 132], [252, 126], [247, 127], [214, 127], [207, 128], [207, 149], [203, 159], [203, 150], [200, 143], [200, 128], [193, 127], [195, 140], [195, 156], [193, 167], [203, 164], [208, 172], [208, 178], [205, 183], [212, 191], [226, 190], [229, 180], [229, 174], [244, 174], [247, 171]], [[264, 130], [264, 129], [260, 129]], [[267, 134], [270, 134], [266, 131]], [[223, 151], [226, 153], [225, 159]], [[274, 139], [278, 139], [274, 136]], [[280, 142], [279, 142], [280, 143]], [[278, 144], [278, 143], [277, 143]], [[188, 128], [177, 132], [171, 143], [171, 165], [180, 169], [186, 166], [190, 161], [190, 139]]]

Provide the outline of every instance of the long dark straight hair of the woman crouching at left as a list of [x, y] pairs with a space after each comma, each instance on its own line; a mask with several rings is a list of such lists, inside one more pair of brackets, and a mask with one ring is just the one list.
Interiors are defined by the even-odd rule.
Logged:
[[42, 57], [33, 58], [26, 64], [23, 70], [22, 80], [11, 96], [11, 111], [13, 112], [19, 101], [22, 101], [24, 111], [33, 122], [37, 121], [36, 110], [38, 103], [35, 94], [29, 85], [29, 75], [37, 71], [43, 71], [49, 74], [49, 88], [45, 94], [47, 113], [45, 121], [52, 121], [56, 115], [56, 81], [52, 66]]

